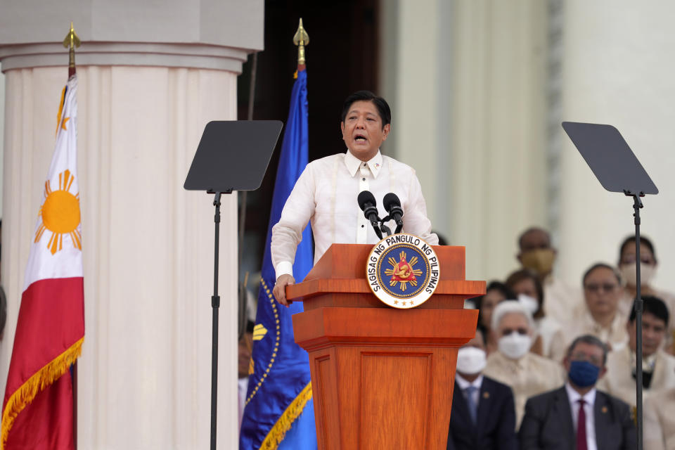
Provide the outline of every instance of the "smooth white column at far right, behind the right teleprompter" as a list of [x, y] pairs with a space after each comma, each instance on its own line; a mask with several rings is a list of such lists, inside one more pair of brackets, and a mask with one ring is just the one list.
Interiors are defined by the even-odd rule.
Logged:
[[[563, 118], [617, 127], [660, 189], [643, 199], [641, 231], [660, 260], [655, 285], [675, 290], [675, 4], [570, 0], [563, 15]], [[594, 262], [617, 263], [634, 233], [632, 200], [605, 191], [562, 137], [560, 274], [581, 283]]]

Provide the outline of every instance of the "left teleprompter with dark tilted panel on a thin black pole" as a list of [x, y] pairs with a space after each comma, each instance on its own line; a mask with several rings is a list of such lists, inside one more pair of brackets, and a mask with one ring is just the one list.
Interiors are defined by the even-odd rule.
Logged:
[[220, 197], [232, 191], [255, 191], [269, 165], [282, 123], [278, 120], [214, 121], [206, 124], [183, 187], [214, 194], [214, 263], [211, 353], [211, 449], [216, 448], [218, 394], [218, 250]]

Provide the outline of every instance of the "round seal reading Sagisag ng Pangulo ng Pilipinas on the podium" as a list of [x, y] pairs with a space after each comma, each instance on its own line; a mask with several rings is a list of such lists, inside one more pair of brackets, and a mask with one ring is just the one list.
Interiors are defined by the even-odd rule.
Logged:
[[431, 245], [407, 233], [380, 240], [366, 264], [373, 294], [394, 308], [414, 308], [426, 302], [436, 290], [439, 275], [438, 257]]

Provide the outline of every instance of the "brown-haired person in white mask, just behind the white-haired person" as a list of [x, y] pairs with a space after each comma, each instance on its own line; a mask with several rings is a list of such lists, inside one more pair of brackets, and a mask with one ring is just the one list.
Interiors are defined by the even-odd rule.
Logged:
[[506, 278], [506, 285], [518, 295], [518, 301], [532, 313], [539, 341], [539, 347], [535, 342], [532, 352], [555, 361], [562, 361], [565, 356], [565, 335], [560, 324], [546, 315], [544, 287], [539, 278], [534, 272], [521, 269]]

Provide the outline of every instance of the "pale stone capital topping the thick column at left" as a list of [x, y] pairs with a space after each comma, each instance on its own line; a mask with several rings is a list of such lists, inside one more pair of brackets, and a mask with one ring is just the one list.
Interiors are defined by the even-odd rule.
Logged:
[[10, 1], [0, 15], [2, 70], [66, 65], [71, 21], [82, 39], [77, 65], [241, 72], [248, 53], [263, 48], [264, 1]]

